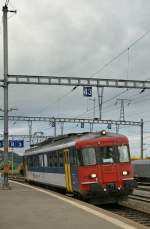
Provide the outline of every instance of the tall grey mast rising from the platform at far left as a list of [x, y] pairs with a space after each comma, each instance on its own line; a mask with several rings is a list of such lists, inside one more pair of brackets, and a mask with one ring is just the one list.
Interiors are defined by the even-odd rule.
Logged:
[[8, 184], [8, 32], [7, 5], [3, 6], [3, 51], [4, 51], [4, 188]]

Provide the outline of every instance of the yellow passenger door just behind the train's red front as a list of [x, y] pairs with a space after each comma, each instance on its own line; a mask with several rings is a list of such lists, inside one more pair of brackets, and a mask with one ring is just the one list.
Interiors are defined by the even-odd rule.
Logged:
[[64, 162], [65, 162], [65, 180], [67, 192], [73, 192], [70, 161], [69, 161], [69, 149], [64, 150]]

